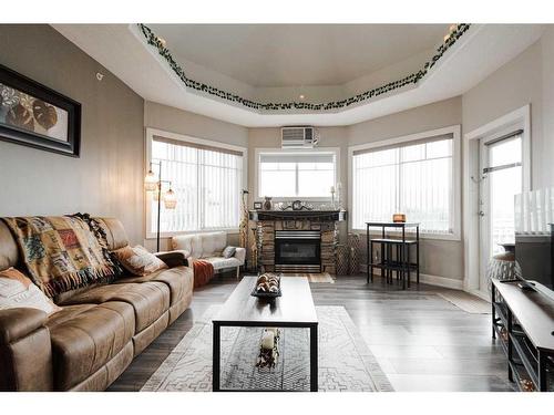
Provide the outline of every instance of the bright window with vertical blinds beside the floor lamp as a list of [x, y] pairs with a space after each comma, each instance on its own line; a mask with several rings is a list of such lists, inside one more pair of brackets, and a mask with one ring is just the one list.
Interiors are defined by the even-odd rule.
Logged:
[[[150, 139], [151, 159], [162, 162], [162, 179], [171, 180], [177, 198], [175, 209], [165, 209], [162, 204], [161, 232], [237, 228], [245, 151], [192, 137], [177, 138], [152, 134]], [[157, 174], [155, 165], [153, 170]], [[157, 201], [148, 196], [148, 229], [155, 232]]]

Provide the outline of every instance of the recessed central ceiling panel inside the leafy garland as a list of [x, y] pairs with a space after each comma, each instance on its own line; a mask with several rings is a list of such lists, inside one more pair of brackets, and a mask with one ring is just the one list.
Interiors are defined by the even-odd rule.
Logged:
[[431, 55], [449, 31], [449, 24], [148, 27], [175, 56], [257, 87], [343, 84], [422, 52]]

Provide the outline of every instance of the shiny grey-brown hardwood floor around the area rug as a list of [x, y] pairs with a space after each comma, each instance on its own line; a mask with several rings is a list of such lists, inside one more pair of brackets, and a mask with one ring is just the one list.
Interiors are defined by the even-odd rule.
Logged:
[[[212, 304], [225, 302], [236, 280], [217, 277], [197, 289], [185, 311], [109, 391], [140, 391]], [[396, 391], [512, 391], [506, 360], [491, 339], [491, 317], [470, 314], [420, 284], [406, 291], [365, 277], [311, 283], [316, 305], [342, 305]]]

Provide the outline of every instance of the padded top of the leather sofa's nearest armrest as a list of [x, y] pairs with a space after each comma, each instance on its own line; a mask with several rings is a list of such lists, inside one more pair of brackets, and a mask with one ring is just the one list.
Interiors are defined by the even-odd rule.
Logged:
[[0, 310], [0, 344], [12, 343], [44, 325], [48, 314], [30, 308]]

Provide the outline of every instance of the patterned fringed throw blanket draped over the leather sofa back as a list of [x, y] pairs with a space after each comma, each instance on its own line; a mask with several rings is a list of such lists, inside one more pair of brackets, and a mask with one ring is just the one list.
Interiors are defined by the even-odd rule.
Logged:
[[109, 281], [116, 270], [88, 216], [3, 218], [18, 241], [33, 282], [54, 297], [93, 282]]

